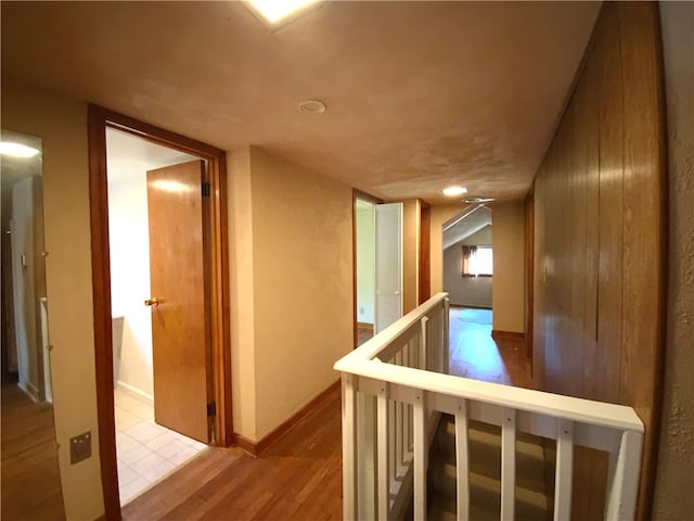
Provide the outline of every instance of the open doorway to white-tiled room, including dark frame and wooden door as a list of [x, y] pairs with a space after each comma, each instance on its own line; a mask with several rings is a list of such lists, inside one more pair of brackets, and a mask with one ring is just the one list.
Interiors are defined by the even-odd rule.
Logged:
[[89, 152], [100, 459], [115, 520], [140, 486], [231, 444], [226, 153], [95, 105]]

